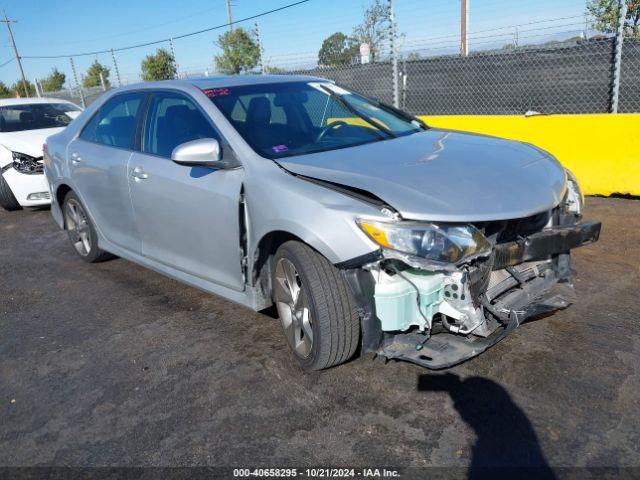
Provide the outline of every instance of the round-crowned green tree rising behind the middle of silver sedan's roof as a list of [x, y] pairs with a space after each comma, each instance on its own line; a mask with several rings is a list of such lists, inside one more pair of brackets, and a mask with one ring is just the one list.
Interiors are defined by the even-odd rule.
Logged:
[[222, 50], [214, 57], [219, 72], [236, 75], [251, 70], [260, 60], [260, 47], [244, 28], [223, 33], [216, 44]]

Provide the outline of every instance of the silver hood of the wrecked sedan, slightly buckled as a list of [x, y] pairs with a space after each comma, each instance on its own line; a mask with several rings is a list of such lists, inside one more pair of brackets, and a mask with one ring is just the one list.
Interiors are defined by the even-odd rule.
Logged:
[[564, 168], [537, 147], [438, 129], [277, 162], [298, 175], [365, 190], [414, 220], [527, 217], [558, 205], [566, 184]]

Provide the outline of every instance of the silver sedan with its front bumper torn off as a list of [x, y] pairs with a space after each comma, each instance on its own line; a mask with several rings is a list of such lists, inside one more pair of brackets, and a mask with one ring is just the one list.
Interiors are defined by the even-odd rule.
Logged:
[[568, 306], [570, 250], [600, 232], [539, 148], [429, 128], [311, 77], [113, 90], [49, 137], [45, 173], [82, 259], [275, 304], [308, 370], [356, 352], [475, 356]]

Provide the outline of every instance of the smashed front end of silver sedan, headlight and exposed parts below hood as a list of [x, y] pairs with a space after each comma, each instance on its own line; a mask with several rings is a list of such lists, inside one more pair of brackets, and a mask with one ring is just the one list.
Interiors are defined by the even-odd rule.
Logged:
[[480, 354], [525, 319], [570, 305], [569, 252], [600, 233], [600, 222], [580, 220], [580, 208], [567, 198], [524, 219], [409, 225], [409, 233], [362, 222], [383, 247], [357, 267], [343, 266], [359, 304], [363, 353], [446, 368]]

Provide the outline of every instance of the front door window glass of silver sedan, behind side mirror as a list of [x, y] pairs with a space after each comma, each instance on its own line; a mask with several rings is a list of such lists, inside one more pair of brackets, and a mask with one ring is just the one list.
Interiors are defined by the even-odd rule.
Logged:
[[195, 103], [178, 93], [156, 93], [151, 98], [142, 151], [171, 158], [178, 145], [219, 135]]

